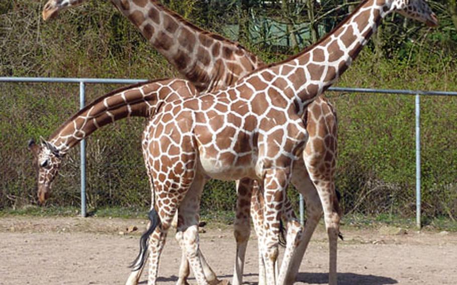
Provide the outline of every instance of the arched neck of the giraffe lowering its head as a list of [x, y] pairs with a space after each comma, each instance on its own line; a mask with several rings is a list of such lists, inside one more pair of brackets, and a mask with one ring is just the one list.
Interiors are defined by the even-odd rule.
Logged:
[[61, 154], [65, 154], [104, 125], [131, 116], [150, 117], [162, 102], [196, 94], [196, 89], [181, 79], [147, 82], [118, 89], [97, 98], [73, 115], [50, 136], [49, 141]]

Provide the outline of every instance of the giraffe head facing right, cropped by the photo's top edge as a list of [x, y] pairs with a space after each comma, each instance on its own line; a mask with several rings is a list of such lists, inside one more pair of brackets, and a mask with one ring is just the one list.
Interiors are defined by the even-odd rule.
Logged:
[[[389, 0], [388, 0], [389, 2]], [[431, 11], [425, 0], [390, 0], [391, 11], [397, 12], [406, 18], [425, 23], [429, 27], [438, 26], [438, 18]]]

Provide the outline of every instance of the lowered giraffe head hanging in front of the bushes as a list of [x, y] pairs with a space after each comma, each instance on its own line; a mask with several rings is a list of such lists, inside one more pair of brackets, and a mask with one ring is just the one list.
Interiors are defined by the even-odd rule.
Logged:
[[33, 139], [29, 140], [29, 150], [33, 153], [33, 165], [38, 173], [38, 200], [43, 204], [49, 198], [51, 183], [60, 168], [62, 155], [49, 141], [40, 140], [39, 144], [35, 144]]

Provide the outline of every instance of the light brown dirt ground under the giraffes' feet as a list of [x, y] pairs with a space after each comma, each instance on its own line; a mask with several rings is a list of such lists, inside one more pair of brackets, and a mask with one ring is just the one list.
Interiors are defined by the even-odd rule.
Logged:
[[[127, 233], [131, 226], [139, 230]], [[130, 272], [128, 264], [138, 253], [144, 227], [139, 219], [0, 218], [0, 284], [122, 284]], [[219, 278], [230, 280], [235, 259], [231, 227], [208, 225], [204, 229], [202, 252]], [[398, 235], [354, 227], [343, 227], [342, 232], [339, 284], [456, 283], [455, 233], [409, 230]], [[256, 284], [258, 278], [257, 242], [252, 236], [244, 275], [247, 284]], [[162, 254], [159, 283], [175, 283], [180, 254], [172, 231]], [[297, 283], [326, 283], [327, 260], [327, 240], [320, 225]], [[146, 283], [145, 274], [142, 283]]]

